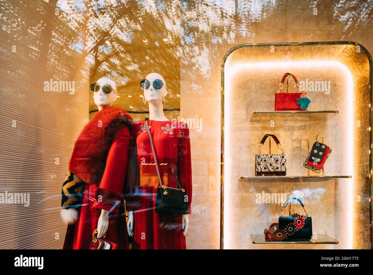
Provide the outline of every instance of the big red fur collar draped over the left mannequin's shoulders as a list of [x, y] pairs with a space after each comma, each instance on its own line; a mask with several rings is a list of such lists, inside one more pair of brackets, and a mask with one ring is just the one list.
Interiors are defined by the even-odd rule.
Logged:
[[69, 170], [85, 183], [100, 183], [110, 144], [123, 125], [131, 129], [132, 118], [120, 108], [106, 107], [95, 114], [75, 141]]

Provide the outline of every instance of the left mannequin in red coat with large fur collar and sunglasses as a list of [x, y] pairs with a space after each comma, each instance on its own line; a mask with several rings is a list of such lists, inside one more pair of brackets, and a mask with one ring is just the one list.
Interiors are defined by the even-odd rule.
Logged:
[[132, 119], [113, 107], [115, 82], [100, 78], [91, 84], [98, 113], [84, 127], [75, 142], [69, 174], [62, 186], [61, 216], [68, 223], [65, 249], [88, 249], [92, 233], [97, 238], [128, 248], [123, 188], [130, 150]]

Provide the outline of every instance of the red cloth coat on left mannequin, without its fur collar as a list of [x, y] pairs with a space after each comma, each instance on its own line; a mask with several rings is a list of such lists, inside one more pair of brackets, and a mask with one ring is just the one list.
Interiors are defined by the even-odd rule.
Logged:
[[[109, 227], [106, 239], [115, 242], [117, 249], [128, 249], [126, 217], [123, 202], [123, 184], [129, 152], [130, 133], [126, 126], [121, 126], [115, 135], [106, 159], [103, 177], [98, 184], [85, 184], [84, 197], [79, 212], [79, 219], [68, 226], [64, 249], [88, 249], [92, 233], [97, 228], [101, 209], [110, 210]], [[98, 201], [97, 193], [118, 194], [112, 196], [118, 204], [105, 204]]]

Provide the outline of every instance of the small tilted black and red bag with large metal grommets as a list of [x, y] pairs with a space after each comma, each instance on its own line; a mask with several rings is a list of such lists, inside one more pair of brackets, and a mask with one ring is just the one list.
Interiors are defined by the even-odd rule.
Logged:
[[313, 144], [311, 152], [308, 154], [308, 158], [305, 160], [303, 166], [320, 174], [330, 153], [332, 153], [332, 149], [326, 144], [320, 143], [319, 136], [317, 135], [316, 142]]

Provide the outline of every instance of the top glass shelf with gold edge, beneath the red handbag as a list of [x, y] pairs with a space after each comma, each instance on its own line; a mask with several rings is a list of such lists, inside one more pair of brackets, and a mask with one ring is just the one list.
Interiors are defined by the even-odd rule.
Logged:
[[338, 114], [337, 110], [320, 111], [253, 111], [250, 122], [279, 121], [325, 121]]

